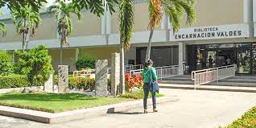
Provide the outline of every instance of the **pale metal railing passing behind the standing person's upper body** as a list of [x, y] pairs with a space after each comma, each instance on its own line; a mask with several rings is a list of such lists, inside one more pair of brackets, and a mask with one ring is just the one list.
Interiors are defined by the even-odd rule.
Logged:
[[[158, 79], [161, 81], [163, 78], [171, 76], [180, 76], [184, 73], [185, 65], [172, 65], [172, 66], [163, 66], [155, 68]], [[130, 70], [130, 75], [138, 76], [141, 75], [143, 69]]]

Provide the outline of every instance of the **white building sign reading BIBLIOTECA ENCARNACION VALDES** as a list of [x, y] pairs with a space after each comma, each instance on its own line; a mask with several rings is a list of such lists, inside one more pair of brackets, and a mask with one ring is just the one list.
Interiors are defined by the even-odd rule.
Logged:
[[174, 35], [171, 34], [171, 41], [249, 37], [248, 27], [246, 24], [232, 24], [213, 27], [181, 28]]

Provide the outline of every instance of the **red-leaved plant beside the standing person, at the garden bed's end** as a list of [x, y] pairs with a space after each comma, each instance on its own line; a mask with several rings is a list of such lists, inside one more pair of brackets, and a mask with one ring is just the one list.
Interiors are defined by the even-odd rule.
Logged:
[[138, 89], [142, 89], [143, 78], [142, 75], [130, 75], [130, 73], [126, 73], [126, 91], [131, 92], [131, 89], [137, 87]]

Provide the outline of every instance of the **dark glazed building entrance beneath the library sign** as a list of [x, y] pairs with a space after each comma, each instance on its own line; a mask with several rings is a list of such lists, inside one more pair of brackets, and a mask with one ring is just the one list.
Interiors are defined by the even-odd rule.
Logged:
[[187, 48], [189, 71], [217, 68], [237, 64], [237, 73], [256, 73], [256, 47], [254, 43], [225, 43], [192, 45]]

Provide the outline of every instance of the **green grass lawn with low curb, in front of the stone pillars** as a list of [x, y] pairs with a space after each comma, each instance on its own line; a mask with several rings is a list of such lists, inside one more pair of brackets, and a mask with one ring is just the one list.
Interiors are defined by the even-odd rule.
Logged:
[[90, 97], [79, 93], [7, 93], [0, 94], [0, 105], [59, 113], [132, 101], [125, 97]]

